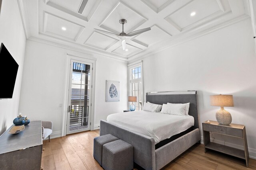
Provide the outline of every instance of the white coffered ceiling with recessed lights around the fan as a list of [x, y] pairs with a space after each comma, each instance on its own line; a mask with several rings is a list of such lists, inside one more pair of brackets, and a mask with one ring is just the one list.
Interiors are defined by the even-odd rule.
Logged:
[[[248, 0], [18, 0], [27, 39], [134, 61], [250, 17]], [[151, 27], [126, 37], [124, 32]]]

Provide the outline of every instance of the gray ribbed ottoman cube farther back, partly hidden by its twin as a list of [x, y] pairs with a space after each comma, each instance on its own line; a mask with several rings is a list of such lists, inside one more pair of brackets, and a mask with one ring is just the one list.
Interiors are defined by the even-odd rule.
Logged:
[[118, 140], [111, 134], [95, 137], [93, 140], [93, 157], [96, 159], [100, 166], [102, 166], [102, 146], [106, 143]]

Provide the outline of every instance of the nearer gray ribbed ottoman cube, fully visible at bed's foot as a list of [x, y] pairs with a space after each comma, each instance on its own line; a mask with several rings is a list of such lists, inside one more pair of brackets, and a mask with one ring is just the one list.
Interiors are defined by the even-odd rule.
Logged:
[[102, 168], [105, 170], [132, 170], [133, 146], [120, 139], [104, 144]]

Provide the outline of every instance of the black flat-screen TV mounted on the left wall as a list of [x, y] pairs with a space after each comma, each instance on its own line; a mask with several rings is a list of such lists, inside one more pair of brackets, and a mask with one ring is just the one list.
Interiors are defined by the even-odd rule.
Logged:
[[19, 65], [3, 43], [0, 47], [0, 98], [12, 98]]

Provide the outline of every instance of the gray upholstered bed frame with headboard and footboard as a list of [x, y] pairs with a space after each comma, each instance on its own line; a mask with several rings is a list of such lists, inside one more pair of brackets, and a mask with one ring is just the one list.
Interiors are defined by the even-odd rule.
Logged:
[[154, 104], [166, 103], [188, 103], [190, 102], [188, 114], [194, 117], [194, 127], [185, 134], [180, 133], [172, 137], [167, 144], [156, 147], [152, 137], [132, 131], [125, 127], [100, 121], [100, 136], [112, 134], [134, 147], [134, 162], [146, 170], [159, 170], [166, 164], [174, 160], [182, 152], [190, 148], [195, 143], [200, 142], [199, 117], [197, 109], [197, 92], [188, 91], [184, 94], [176, 92], [147, 93], [146, 101]]

